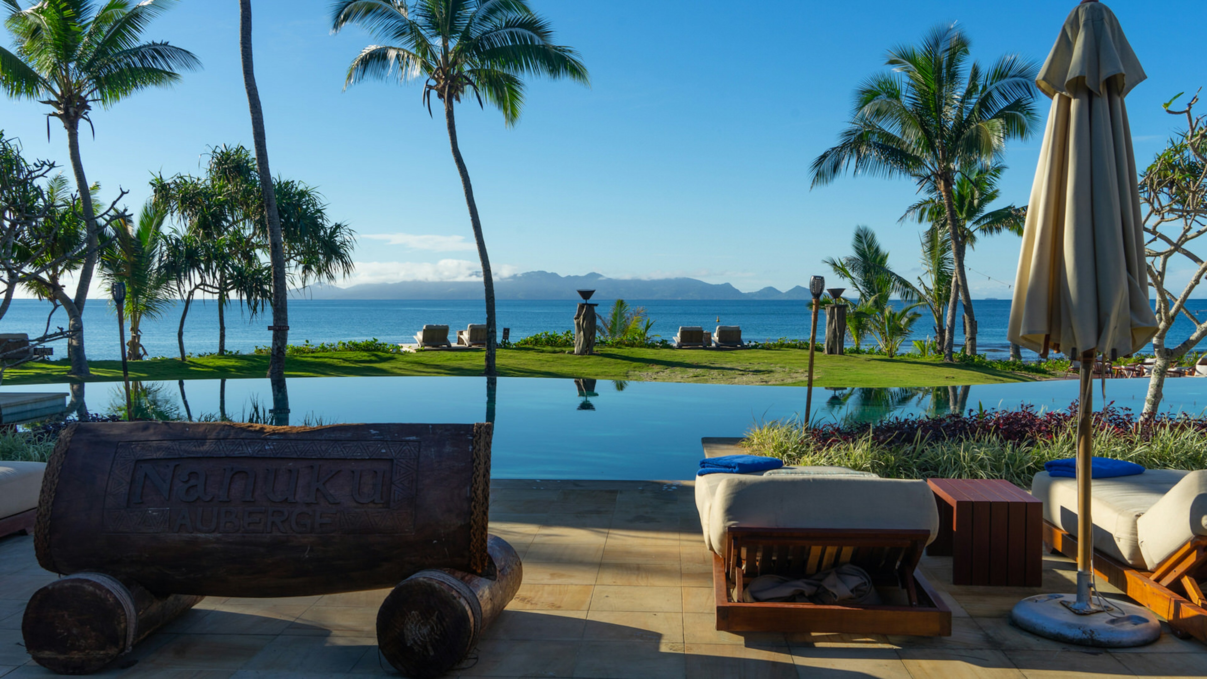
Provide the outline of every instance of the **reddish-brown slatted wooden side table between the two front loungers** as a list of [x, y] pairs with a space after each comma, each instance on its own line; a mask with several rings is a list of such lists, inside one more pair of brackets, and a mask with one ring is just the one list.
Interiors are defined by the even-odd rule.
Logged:
[[1038, 587], [1043, 501], [1001, 478], [927, 478], [939, 535], [926, 549], [951, 556], [952, 584]]

